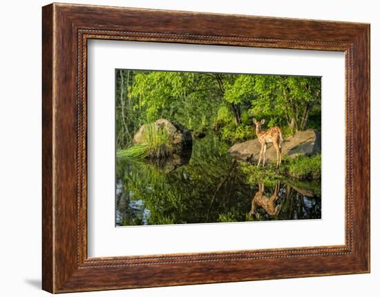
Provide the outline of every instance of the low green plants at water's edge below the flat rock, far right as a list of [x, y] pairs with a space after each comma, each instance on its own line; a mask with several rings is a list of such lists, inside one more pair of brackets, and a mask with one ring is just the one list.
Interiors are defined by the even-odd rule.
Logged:
[[299, 156], [288, 165], [289, 175], [301, 179], [321, 178], [321, 154]]

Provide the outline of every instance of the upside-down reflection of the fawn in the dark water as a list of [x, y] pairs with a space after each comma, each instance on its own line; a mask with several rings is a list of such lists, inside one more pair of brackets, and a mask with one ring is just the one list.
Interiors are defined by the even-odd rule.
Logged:
[[276, 200], [278, 198], [277, 192], [279, 190], [279, 187], [280, 183], [277, 183], [272, 196], [268, 198], [267, 196], [265, 196], [264, 193], [264, 184], [259, 183], [258, 192], [252, 199], [251, 211], [249, 212], [249, 214], [251, 216], [256, 215], [256, 217], [258, 217], [256, 207], [263, 207], [263, 209], [265, 210], [265, 212], [267, 212], [267, 214], [269, 214], [269, 216], [276, 216], [281, 210], [281, 205], [276, 206]]

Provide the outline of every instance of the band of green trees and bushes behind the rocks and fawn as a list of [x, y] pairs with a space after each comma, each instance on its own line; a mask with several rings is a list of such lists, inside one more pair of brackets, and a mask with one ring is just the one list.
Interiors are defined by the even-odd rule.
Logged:
[[267, 127], [281, 127], [285, 136], [308, 127], [321, 129], [320, 78], [132, 70], [116, 74], [118, 150], [132, 145], [143, 123], [158, 118], [194, 131], [228, 127], [220, 135], [229, 143], [247, 139], [245, 127], [238, 126], [251, 125], [253, 116], [266, 119]]

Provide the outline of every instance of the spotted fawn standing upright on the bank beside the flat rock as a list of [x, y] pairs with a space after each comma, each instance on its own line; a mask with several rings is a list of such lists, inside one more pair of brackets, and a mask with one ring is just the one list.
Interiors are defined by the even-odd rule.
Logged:
[[263, 156], [263, 166], [265, 166], [265, 152], [267, 152], [267, 143], [273, 143], [273, 146], [277, 152], [277, 168], [281, 165], [281, 142], [283, 142], [283, 133], [279, 127], [272, 127], [268, 130], [261, 130], [261, 125], [265, 123], [265, 119], [261, 121], [253, 120], [256, 125], [256, 135], [258, 142], [261, 144], [260, 157], [258, 158], [258, 166], [261, 162], [261, 156]]

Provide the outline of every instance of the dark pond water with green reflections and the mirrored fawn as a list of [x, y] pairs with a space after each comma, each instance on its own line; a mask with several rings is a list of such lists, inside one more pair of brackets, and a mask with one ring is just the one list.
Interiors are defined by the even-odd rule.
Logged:
[[161, 163], [117, 161], [116, 225], [321, 218], [319, 181], [249, 183], [227, 148], [207, 136]]

